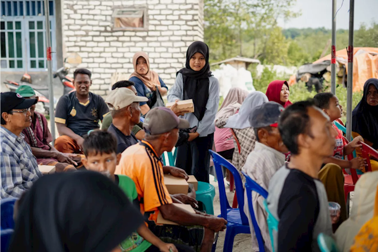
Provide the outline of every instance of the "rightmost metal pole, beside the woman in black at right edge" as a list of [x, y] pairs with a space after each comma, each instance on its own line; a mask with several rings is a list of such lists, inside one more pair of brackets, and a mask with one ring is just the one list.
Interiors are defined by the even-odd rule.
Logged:
[[354, 0], [349, 3], [349, 46], [348, 46], [348, 79], [347, 79], [347, 139], [352, 139], [352, 95], [353, 95], [353, 30]]

